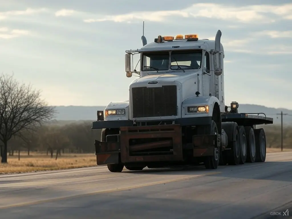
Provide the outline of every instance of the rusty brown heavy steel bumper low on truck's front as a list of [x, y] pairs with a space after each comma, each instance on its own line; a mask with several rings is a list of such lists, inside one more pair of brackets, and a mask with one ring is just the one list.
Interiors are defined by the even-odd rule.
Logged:
[[[123, 126], [111, 140], [95, 140], [97, 164], [184, 161], [183, 150], [193, 150], [193, 157], [212, 156], [217, 147], [216, 135], [193, 135], [192, 144], [183, 145], [180, 124]], [[112, 139], [115, 139], [114, 142]], [[133, 144], [141, 139], [148, 143]]]

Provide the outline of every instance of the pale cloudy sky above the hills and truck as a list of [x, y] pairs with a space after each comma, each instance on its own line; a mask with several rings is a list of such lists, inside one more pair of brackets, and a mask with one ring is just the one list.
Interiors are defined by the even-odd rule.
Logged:
[[222, 31], [225, 105], [292, 109], [291, 0], [0, 1], [0, 71], [50, 105], [128, 100], [125, 50], [158, 35]]

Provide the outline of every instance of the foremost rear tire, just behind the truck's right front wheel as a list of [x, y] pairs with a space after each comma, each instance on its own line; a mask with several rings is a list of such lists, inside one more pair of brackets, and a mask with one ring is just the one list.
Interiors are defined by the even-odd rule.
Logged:
[[223, 151], [223, 157], [228, 165], [238, 165], [241, 159], [241, 142], [239, 128], [236, 122], [223, 122], [222, 128], [228, 136], [227, 149]]

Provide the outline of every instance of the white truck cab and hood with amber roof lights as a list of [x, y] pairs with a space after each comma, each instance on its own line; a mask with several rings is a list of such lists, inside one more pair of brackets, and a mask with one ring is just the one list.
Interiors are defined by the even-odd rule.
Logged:
[[[154, 42], [145, 44], [138, 50], [126, 51], [127, 77], [131, 77], [133, 73], [138, 73], [140, 76], [130, 84], [129, 119], [140, 121], [206, 116], [200, 112], [197, 114], [190, 112], [187, 107], [192, 106], [188, 104], [213, 105], [215, 98], [220, 111], [224, 112], [224, 49], [220, 43], [220, 35], [219, 31], [217, 44], [220, 46], [217, 51], [214, 40], [199, 40], [197, 34], [185, 35], [185, 38], [183, 35], [158, 36]], [[139, 72], [136, 69], [132, 71], [131, 66], [132, 56], [137, 53], [140, 55], [141, 62]], [[214, 74], [215, 72], [217, 75]], [[137, 99], [136, 95], [142, 91], [144, 95], [150, 95], [145, 93], [146, 90], [160, 93], [160, 96], [156, 94], [155, 97], [164, 107], [152, 104], [151, 108], [147, 107], [146, 102], [139, 102], [142, 100]], [[147, 98], [147, 101], [155, 100]], [[143, 107], [151, 112], [142, 111]], [[159, 110], [155, 110], [156, 108]], [[204, 107], [199, 109], [203, 110]]]

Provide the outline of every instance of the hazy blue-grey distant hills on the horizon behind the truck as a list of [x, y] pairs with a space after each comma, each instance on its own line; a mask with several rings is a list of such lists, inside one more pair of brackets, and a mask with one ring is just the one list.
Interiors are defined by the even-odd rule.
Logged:
[[[105, 106], [56, 106], [57, 114], [55, 115], [55, 120], [63, 120], [62, 124], [67, 124], [76, 121], [95, 121], [96, 111], [104, 110]], [[263, 112], [267, 117], [272, 117], [274, 119], [274, 124], [281, 123], [281, 116], [276, 115], [277, 113], [288, 113], [292, 115], [292, 110], [282, 109], [282, 108], [270, 108], [260, 105], [252, 104], [239, 104], [239, 112], [246, 113], [258, 113]], [[278, 118], [277, 118], [278, 117]], [[283, 124], [292, 125], [292, 116], [283, 116]]]

